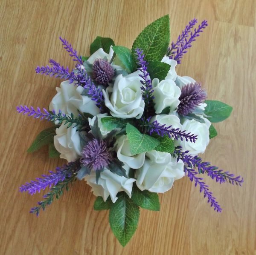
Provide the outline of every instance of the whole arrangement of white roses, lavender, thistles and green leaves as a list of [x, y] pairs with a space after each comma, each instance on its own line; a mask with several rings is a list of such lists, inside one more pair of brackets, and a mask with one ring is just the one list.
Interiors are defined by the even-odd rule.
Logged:
[[169, 47], [169, 16], [148, 25], [132, 49], [115, 46], [111, 38], [96, 37], [90, 56], [79, 55], [60, 37], [76, 62], [69, 70], [55, 60], [35, 72], [64, 79], [49, 110], [18, 106], [17, 111], [53, 126], [43, 130], [29, 147], [49, 146], [49, 157], [67, 164], [20, 187], [33, 195], [49, 187], [43, 201], [30, 212], [58, 199], [74, 181], [85, 180], [96, 195], [95, 210], [109, 210], [113, 234], [125, 246], [136, 231], [140, 207], [160, 210], [157, 193], [170, 190], [187, 176], [221, 212], [201, 176], [241, 186], [243, 178], [204, 162], [209, 140], [217, 135], [212, 123], [230, 116], [232, 107], [206, 100], [201, 83], [175, 71], [183, 55], [207, 27], [191, 20]]

